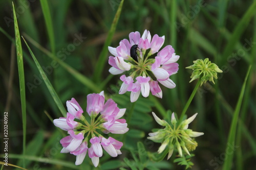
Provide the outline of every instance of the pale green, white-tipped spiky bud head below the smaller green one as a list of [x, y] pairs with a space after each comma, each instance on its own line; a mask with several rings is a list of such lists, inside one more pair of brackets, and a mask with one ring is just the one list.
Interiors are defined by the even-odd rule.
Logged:
[[182, 150], [186, 154], [190, 155], [189, 151], [194, 151], [196, 149], [198, 144], [194, 137], [201, 136], [204, 133], [193, 132], [191, 129], [187, 128], [188, 124], [190, 124], [196, 118], [197, 113], [188, 119], [183, 120], [180, 125], [177, 125], [177, 120], [174, 113], [172, 114], [170, 124], [165, 120], [160, 119], [154, 112], [152, 112], [152, 114], [159, 125], [165, 126], [164, 129], [160, 129], [154, 133], [149, 133], [148, 135], [150, 137], [147, 137], [155, 142], [162, 143], [158, 149], [159, 154], [165, 149], [168, 149], [167, 159], [169, 159], [172, 156], [175, 147], [177, 148], [180, 156], [183, 154]]

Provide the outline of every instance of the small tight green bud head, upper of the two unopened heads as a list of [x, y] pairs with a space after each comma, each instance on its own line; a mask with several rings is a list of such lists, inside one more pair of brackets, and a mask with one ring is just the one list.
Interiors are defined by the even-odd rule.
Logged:
[[215, 84], [214, 78], [218, 79], [217, 72], [222, 72], [222, 70], [215, 63], [211, 63], [208, 58], [204, 60], [198, 59], [193, 61], [193, 63], [193, 65], [186, 67], [193, 70], [192, 75], [190, 76], [190, 82], [201, 78], [201, 86], [207, 81], [211, 81]]

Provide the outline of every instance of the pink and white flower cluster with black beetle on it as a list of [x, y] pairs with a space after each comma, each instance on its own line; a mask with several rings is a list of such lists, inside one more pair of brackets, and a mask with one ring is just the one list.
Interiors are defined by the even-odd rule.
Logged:
[[[131, 102], [137, 101], [140, 93], [146, 98], [150, 91], [158, 98], [162, 98], [162, 90], [158, 83], [167, 88], [176, 86], [169, 77], [178, 72], [179, 56], [175, 54], [171, 45], [159, 51], [164, 43], [164, 36], [159, 37], [155, 34], [152, 38], [150, 31], [145, 30], [142, 36], [137, 31], [132, 32], [129, 39], [121, 40], [116, 48], [109, 46], [109, 51], [113, 55], [109, 57], [109, 64], [112, 66], [109, 69], [110, 73], [118, 75], [125, 71], [130, 72], [129, 76], [120, 77], [123, 83], [119, 94], [131, 91]], [[131, 57], [131, 48], [134, 45], [138, 45], [137, 56], [134, 56], [138, 57], [138, 62]], [[150, 72], [153, 73], [154, 79]]]

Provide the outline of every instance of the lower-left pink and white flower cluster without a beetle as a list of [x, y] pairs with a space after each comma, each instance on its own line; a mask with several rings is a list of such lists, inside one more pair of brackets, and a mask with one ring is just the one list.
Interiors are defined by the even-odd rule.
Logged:
[[53, 120], [56, 127], [68, 131], [69, 136], [60, 140], [63, 147], [61, 153], [76, 155], [76, 165], [82, 163], [88, 152], [94, 166], [98, 166], [99, 158], [103, 153], [102, 148], [112, 157], [121, 154], [123, 143], [112, 137], [103, 137], [98, 130], [105, 134], [126, 133], [129, 130], [126, 121], [120, 119], [126, 109], [119, 109], [112, 99], [106, 103], [104, 100], [103, 91], [99, 94], [87, 95], [87, 113], [91, 116], [91, 123], [82, 115], [83, 110], [74, 98], [67, 101], [67, 117]]

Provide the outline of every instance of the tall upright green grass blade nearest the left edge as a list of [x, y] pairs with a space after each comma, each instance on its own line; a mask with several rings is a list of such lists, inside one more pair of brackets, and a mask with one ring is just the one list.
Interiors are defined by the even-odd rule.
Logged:
[[[23, 65], [22, 43], [20, 42], [18, 22], [17, 22], [13, 3], [12, 3], [12, 7], [13, 7], [13, 16], [14, 16], [15, 44], [16, 44], [17, 62], [18, 62], [20, 101], [22, 102], [23, 155], [25, 155], [26, 154], [26, 127], [27, 127], [25, 75], [24, 75], [24, 65]], [[23, 167], [25, 167], [25, 159], [23, 159]]]

